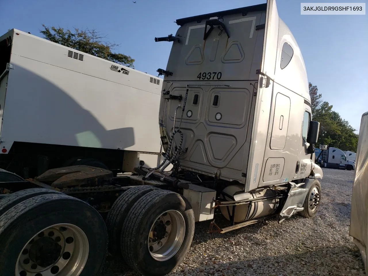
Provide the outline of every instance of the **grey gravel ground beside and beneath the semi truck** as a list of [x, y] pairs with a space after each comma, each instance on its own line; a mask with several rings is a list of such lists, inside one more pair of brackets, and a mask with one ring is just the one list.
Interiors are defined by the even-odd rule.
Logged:
[[[314, 219], [292, 216], [260, 222], [225, 234], [196, 224], [190, 251], [176, 275], [365, 275], [349, 237], [354, 171], [323, 169], [322, 201]], [[133, 276], [108, 256], [100, 276]]]

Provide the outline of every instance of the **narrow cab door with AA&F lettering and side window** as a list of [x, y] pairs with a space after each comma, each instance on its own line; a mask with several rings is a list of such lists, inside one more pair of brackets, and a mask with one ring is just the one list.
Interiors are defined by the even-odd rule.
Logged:
[[311, 107], [304, 104], [304, 113], [302, 118], [302, 129], [300, 137], [300, 155], [296, 164], [295, 178], [304, 178], [309, 176], [312, 169], [312, 154], [307, 152], [309, 144], [307, 143], [307, 136], [309, 131], [309, 122], [311, 121]]

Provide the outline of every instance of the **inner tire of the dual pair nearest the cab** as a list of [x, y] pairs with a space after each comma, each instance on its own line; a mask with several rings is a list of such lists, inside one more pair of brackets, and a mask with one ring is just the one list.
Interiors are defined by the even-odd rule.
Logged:
[[125, 217], [128, 216], [128, 212], [139, 198], [153, 190], [158, 190], [158, 188], [149, 185], [133, 187], [121, 194], [114, 202], [106, 218], [111, 254], [121, 256], [120, 237]]

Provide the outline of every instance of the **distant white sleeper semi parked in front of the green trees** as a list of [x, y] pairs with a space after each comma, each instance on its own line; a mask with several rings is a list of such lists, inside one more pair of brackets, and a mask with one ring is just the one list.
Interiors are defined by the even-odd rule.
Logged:
[[347, 170], [353, 170], [355, 168], [354, 162], [347, 160], [345, 153], [338, 148], [328, 147], [327, 150], [322, 151], [320, 158], [325, 168]]

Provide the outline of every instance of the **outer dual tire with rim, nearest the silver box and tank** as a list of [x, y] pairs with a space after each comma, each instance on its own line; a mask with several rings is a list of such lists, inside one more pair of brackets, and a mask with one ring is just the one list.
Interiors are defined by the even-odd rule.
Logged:
[[180, 194], [155, 190], [132, 206], [121, 231], [125, 262], [146, 276], [170, 273], [185, 257], [194, 235], [194, 212]]

